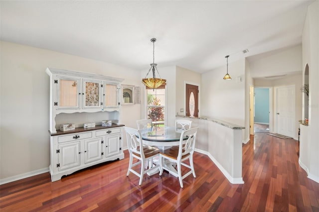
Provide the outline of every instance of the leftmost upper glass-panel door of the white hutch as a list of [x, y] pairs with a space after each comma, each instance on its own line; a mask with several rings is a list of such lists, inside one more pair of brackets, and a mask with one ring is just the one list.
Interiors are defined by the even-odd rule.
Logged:
[[54, 80], [57, 84], [57, 102], [54, 102], [56, 109], [80, 109], [80, 79], [57, 77]]

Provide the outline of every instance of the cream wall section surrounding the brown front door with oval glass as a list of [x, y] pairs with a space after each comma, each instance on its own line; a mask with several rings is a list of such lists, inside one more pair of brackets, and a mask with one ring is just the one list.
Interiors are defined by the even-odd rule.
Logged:
[[[176, 107], [175, 114], [185, 115], [186, 112], [186, 96], [185, 96], [185, 83], [190, 85], [197, 85], [198, 91], [201, 93], [200, 83], [201, 75], [197, 72], [190, 71], [188, 69], [176, 66]], [[200, 108], [200, 97], [198, 97], [198, 108]], [[184, 109], [184, 112], [180, 112], [180, 108]], [[198, 116], [201, 116], [199, 110]]]

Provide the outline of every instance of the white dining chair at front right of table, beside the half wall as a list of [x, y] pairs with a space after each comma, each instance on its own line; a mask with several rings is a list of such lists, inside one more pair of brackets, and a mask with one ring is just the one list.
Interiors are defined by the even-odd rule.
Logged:
[[[193, 164], [193, 153], [195, 149], [195, 140], [197, 134], [198, 127], [186, 129], [181, 131], [180, 138], [179, 138], [179, 145], [173, 146], [169, 149], [165, 149], [164, 151], [160, 152], [160, 176], [165, 169], [170, 174], [175, 177], [178, 177], [180, 187], [183, 188], [183, 179], [190, 174], [193, 174], [193, 177], [196, 178], [194, 164]], [[187, 137], [186, 140], [183, 140], [184, 137]], [[170, 162], [176, 163], [177, 173], [171, 172], [168, 168], [166, 168], [164, 164], [164, 160], [169, 160]], [[183, 163], [183, 161], [189, 159], [189, 165]], [[190, 171], [182, 175], [181, 173], [181, 166], [185, 166]]]

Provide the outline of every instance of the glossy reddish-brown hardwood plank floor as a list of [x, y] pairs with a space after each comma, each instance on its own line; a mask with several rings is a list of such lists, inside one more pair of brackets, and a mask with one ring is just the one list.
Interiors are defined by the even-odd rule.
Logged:
[[319, 211], [319, 184], [298, 164], [298, 142], [257, 133], [243, 145], [244, 184], [228, 182], [208, 156], [195, 153], [196, 178], [164, 172], [139, 178], [125, 159], [51, 183], [49, 173], [0, 186], [0, 211]]

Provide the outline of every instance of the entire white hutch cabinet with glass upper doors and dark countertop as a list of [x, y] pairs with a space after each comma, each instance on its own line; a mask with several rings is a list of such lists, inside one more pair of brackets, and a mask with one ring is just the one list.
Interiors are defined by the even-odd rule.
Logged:
[[[51, 181], [102, 162], [123, 159], [124, 125], [120, 124], [123, 79], [52, 68], [47, 68], [46, 73], [50, 76]], [[87, 117], [97, 112], [108, 113], [112, 125], [100, 125], [101, 119], [95, 127], [84, 128], [77, 115], [85, 113]], [[76, 128], [60, 131], [57, 116], [65, 120], [71, 113], [75, 118], [70, 123], [75, 122]]]

